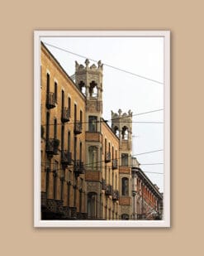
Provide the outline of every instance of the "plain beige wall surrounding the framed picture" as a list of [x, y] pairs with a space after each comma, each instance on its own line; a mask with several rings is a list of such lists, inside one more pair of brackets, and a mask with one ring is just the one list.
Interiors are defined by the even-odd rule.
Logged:
[[[69, 250], [69, 254], [77, 252], [93, 255], [97, 252], [101, 256], [104, 255], [101, 249], [104, 243], [108, 254], [121, 256], [127, 252], [125, 242], [128, 240], [130, 254], [201, 255], [204, 178], [201, 161], [204, 124], [204, 89], [201, 82], [203, 2], [105, 0], [97, 4], [95, 1], [60, 3], [58, 5], [56, 2], [39, 0], [2, 1], [1, 254], [53, 256]], [[171, 229], [33, 228], [34, 29], [172, 31]], [[4, 111], [5, 106], [7, 111]], [[197, 179], [192, 182], [195, 173]], [[189, 188], [197, 191], [197, 195], [189, 193]], [[195, 211], [195, 205], [199, 205], [199, 212]]]

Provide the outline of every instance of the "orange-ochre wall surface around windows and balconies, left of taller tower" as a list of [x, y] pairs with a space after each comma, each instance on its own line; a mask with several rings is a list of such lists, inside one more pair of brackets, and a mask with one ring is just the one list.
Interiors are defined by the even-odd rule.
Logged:
[[[71, 64], [70, 64], [71, 65]], [[72, 64], [74, 65], [74, 63]], [[82, 150], [82, 162], [85, 162], [85, 99], [83, 95], [75, 88], [74, 83], [69, 79], [68, 75], [64, 73], [64, 70], [60, 68], [60, 66], [55, 61], [55, 58], [50, 55], [50, 52], [45, 49], [45, 46], [41, 46], [41, 123], [45, 128], [44, 139], [41, 138], [41, 151], [42, 151], [42, 164], [41, 164], [41, 190], [46, 191], [46, 172], [45, 172], [45, 162], [47, 162], [46, 152], [45, 152], [45, 136], [46, 136], [46, 113], [50, 113], [50, 138], [54, 138], [54, 120], [57, 119], [57, 138], [60, 141], [59, 148], [61, 148], [61, 106], [62, 106], [62, 90], [64, 90], [64, 107], [68, 107], [68, 98], [71, 99], [71, 111], [69, 122], [64, 123], [64, 150], [68, 150], [68, 132], [70, 132], [70, 152], [72, 152], [72, 159], [74, 159], [74, 104], [77, 105], [77, 120], [80, 118], [80, 111], [83, 112], [83, 129], [82, 133], [78, 134], [77, 137], [77, 157], [79, 159], [79, 144], [82, 142], [83, 150]], [[58, 99], [55, 108], [48, 110], [46, 108], [46, 83], [47, 83], [47, 73], [50, 74], [50, 92], [55, 92], [55, 82], [57, 82], [58, 86]], [[58, 171], [57, 171], [57, 197], [56, 199], [60, 199], [60, 190], [61, 190], [61, 182], [60, 176], [63, 171], [60, 166], [61, 156], [60, 152], [58, 155], [54, 155], [51, 158], [51, 171], [55, 170], [54, 163], [58, 162]], [[80, 179], [83, 179], [82, 188], [85, 187], [85, 179], [84, 175], [81, 174], [78, 176], [77, 180], [74, 176], [74, 166], [69, 165], [65, 169], [64, 176], [64, 206], [68, 205], [68, 184], [67, 182], [71, 182], [71, 190], [70, 190], [70, 198], [69, 198], [69, 206], [74, 206], [74, 186], [77, 185], [79, 187]], [[50, 190], [48, 194], [48, 198], [53, 199], [54, 195], [54, 186], [53, 186], [54, 176], [50, 173]], [[81, 186], [80, 186], [81, 187]], [[76, 206], [77, 211], [79, 211], [79, 192], [77, 190], [77, 200]], [[82, 211], [86, 211], [85, 204], [85, 191], [83, 192], [83, 202], [82, 202]]]

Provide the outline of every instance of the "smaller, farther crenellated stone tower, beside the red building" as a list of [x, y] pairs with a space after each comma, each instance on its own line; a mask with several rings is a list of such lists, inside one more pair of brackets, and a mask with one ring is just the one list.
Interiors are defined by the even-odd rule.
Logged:
[[121, 219], [133, 218], [133, 200], [131, 191], [131, 158], [132, 158], [132, 112], [117, 113], [111, 111], [111, 129], [120, 138], [119, 184]]

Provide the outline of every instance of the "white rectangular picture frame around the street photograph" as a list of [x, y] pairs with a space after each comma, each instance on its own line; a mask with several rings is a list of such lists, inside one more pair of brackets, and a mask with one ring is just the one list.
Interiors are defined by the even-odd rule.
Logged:
[[[40, 220], [40, 37], [164, 37], [164, 220]], [[169, 228], [170, 227], [170, 31], [34, 31], [34, 227]]]

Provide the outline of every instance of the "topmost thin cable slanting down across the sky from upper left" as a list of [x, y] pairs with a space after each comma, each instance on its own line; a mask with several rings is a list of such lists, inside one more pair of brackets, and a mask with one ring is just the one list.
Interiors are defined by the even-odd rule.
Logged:
[[[56, 48], [56, 49], [58, 49], [58, 50], [60, 50], [60, 51], [68, 52], [69, 54], [72, 54], [72, 55], [74, 55], [74, 56], [78, 56], [78, 57], [81, 57], [81, 58], [83, 58], [83, 59], [88, 59], [88, 60], [92, 60], [93, 62], [97, 62], [97, 60], [93, 60], [93, 59], [91, 59], [91, 58], [88, 58], [87, 56], [79, 55], [78, 53], [74, 53], [73, 51], [69, 51], [69, 50], [60, 48], [59, 46], [53, 46], [53, 45], [50, 45], [49, 43], [46, 43], [46, 42], [44, 42], [44, 44], [47, 45], [47, 46], [50, 46], [50, 47], [54, 47], [54, 48]], [[157, 84], [160, 84], [160, 85], [164, 85], [164, 83], [159, 82], [159, 81], [157, 81], [157, 80], [152, 80], [152, 79], [150, 79], [150, 78], [148, 78], [148, 77], [145, 77], [145, 76], [143, 76], [143, 75], [138, 75], [138, 74], [132, 73], [132, 72], [127, 71], [127, 70], [122, 70], [122, 69], [117, 68], [117, 67], [115, 67], [115, 66], [113, 66], [113, 65], [108, 65], [108, 64], [106, 64], [106, 63], [103, 63], [103, 65], [106, 65], [107, 67], [110, 67], [111, 69], [114, 69], [114, 70], [118, 70], [118, 71], [127, 73], [127, 74], [129, 74], [129, 75], [135, 75], [135, 76], [137, 76], [137, 77], [140, 77], [141, 79], [149, 80], [149, 81], [152, 81], [152, 82], [154, 82], [154, 83], [157, 83]]]

